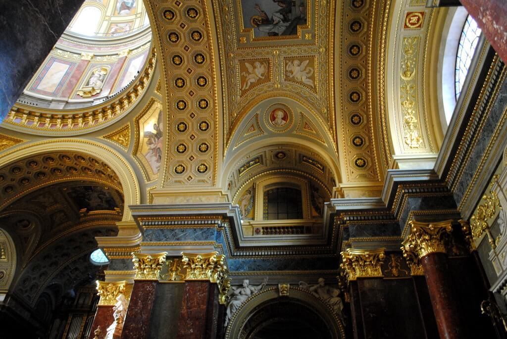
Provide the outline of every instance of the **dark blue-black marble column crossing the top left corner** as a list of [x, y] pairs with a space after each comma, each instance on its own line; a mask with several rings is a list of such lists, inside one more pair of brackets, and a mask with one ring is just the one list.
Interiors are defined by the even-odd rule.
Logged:
[[0, 122], [82, 4], [83, 0], [0, 4]]

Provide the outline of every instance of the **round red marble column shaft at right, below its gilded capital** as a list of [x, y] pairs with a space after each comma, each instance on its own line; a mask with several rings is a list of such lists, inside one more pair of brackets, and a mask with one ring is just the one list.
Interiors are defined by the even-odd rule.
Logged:
[[431, 252], [421, 258], [426, 277], [429, 298], [441, 338], [463, 339], [468, 337], [460, 315], [459, 303], [452, 289], [447, 254]]

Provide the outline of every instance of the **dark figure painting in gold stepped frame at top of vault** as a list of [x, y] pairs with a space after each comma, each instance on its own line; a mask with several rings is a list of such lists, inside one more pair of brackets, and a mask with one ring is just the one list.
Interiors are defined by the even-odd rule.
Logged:
[[253, 36], [296, 35], [306, 25], [306, 2], [294, 0], [241, 0], [243, 27]]

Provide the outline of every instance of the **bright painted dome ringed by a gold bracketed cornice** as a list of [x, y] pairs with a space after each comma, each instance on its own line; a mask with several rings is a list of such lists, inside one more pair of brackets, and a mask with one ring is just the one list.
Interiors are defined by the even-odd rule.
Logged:
[[64, 132], [123, 116], [151, 80], [151, 41], [141, 0], [86, 0], [6, 122]]

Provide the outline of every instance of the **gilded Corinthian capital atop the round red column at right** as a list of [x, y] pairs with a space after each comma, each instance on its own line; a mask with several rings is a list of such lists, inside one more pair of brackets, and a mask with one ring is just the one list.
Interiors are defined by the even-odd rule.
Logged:
[[[410, 221], [411, 233], [402, 243], [405, 258], [414, 253], [417, 259], [430, 253], [446, 253], [445, 239], [452, 231], [452, 220], [440, 222]], [[410, 265], [410, 262], [409, 262]]]

